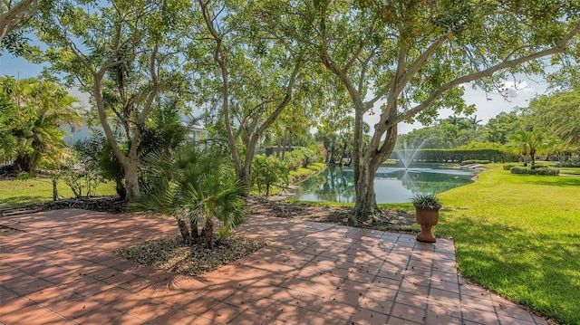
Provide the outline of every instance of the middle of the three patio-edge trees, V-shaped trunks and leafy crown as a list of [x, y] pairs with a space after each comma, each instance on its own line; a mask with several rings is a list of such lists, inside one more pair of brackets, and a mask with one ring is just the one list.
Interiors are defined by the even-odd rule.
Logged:
[[200, 44], [206, 53], [190, 55], [193, 62], [201, 57], [211, 68], [202, 74], [208, 78], [197, 82], [218, 96], [200, 102], [219, 107], [217, 118], [223, 128], [218, 131], [227, 139], [237, 177], [247, 185], [256, 145], [266, 130], [283, 129], [287, 140], [288, 134], [310, 125], [308, 104], [320, 93], [308, 85], [316, 74], [305, 74], [300, 46], [281, 37], [275, 25], [256, 20], [256, 7], [261, 5], [198, 0], [205, 24], [198, 33], [209, 42]]

